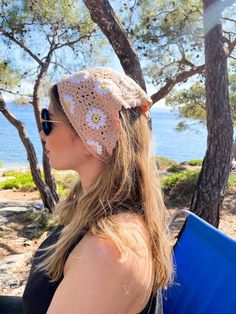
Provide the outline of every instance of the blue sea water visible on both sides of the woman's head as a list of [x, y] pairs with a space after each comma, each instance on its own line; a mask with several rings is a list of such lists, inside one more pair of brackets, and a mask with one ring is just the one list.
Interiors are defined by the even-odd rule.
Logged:
[[[33, 109], [29, 106], [7, 105], [9, 110], [25, 124], [27, 134], [34, 144], [41, 164], [42, 146], [34, 120]], [[178, 114], [166, 108], [152, 109], [153, 135], [156, 155], [182, 162], [202, 159], [206, 150], [206, 128], [195, 126], [195, 131], [176, 132]], [[188, 120], [191, 123], [191, 120]], [[197, 131], [197, 132], [196, 132]], [[0, 113], [0, 160], [4, 166], [28, 165], [25, 148], [17, 130]]]

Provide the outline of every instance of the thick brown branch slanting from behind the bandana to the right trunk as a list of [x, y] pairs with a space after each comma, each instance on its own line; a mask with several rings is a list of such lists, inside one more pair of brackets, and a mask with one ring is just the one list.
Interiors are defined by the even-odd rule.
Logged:
[[201, 74], [204, 71], [204, 68], [205, 68], [205, 65], [203, 64], [203, 65], [200, 65], [198, 67], [194, 67], [189, 71], [183, 71], [183, 72], [179, 73], [176, 76], [176, 78], [168, 79], [165, 86], [163, 86], [157, 93], [155, 93], [151, 96], [153, 103], [156, 103], [160, 99], [164, 98], [176, 84], [186, 80], [187, 78], [189, 78], [193, 75]]

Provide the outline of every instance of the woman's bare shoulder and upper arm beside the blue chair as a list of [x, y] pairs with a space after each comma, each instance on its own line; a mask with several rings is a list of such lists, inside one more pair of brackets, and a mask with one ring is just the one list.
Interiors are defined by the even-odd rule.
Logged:
[[[143, 309], [153, 280], [145, 226], [138, 216], [129, 214], [117, 215], [114, 222], [125, 241], [131, 239], [130, 254], [121, 259], [114, 241], [85, 235], [67, 259], [64, 279], [48, 313], [64, 313], [58, 311], [68, 311], [68, 306], [71, 314], [78, 313], [78, 309], [81, 313], [104, 314], [138, 313]], [[133, 254], [133, 250], [138, 253]]]

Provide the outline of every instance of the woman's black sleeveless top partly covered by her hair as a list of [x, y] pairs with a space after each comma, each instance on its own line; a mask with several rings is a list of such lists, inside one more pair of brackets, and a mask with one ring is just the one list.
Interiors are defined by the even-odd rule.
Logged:
[[[58, 240], [63, 226], [59, 226], [43, 241], [39, 249], [45, 248]], [[78, 244], [83, 236], [78, 237], [70, 247], [68, 254]], [[41, 271], [36, 271], [35, 266], [38, 259], [42, 256], [42, 251], [37, 250], [32, 262], [31, 271], [23, 294], [23, 314], [46, 314], [51, 303], [53, 295], [63, 279], [56, 282], [50, 282], [48, 276]], [[146, 307], [140, 314], [162, 314], [161, 293], [153, 294]]]

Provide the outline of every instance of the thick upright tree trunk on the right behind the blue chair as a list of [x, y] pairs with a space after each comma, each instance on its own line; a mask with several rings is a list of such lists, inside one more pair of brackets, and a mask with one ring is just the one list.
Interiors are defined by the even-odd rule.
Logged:
[[[223, 49], [221, 11], [216, 0], [203, 0], [207, 151], [191, 202], [191, 210], [218, 227], [230, 167], [233, 123], [228, 94], [227, 56]], [[214, 14], [209, 14], [214, 12]], [[214, 19], [214, 25], [210, 26]], [[210, 23], [209, 23], [210, 22]]]

